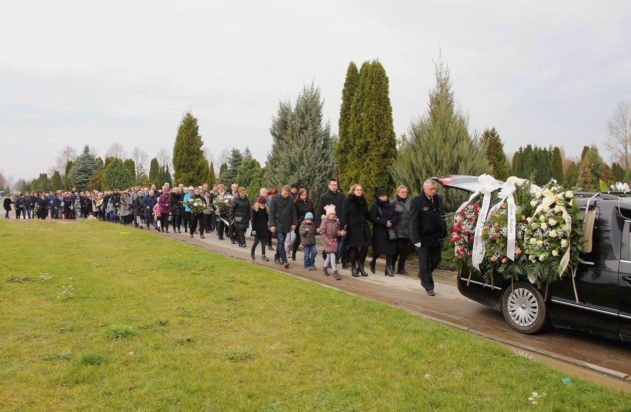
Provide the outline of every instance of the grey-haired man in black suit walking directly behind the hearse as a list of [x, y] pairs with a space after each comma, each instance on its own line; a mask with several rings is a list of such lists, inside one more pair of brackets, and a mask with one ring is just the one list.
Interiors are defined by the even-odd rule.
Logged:
[[447, 236], [442, 197], [432, 179], [423, 182], [423, 193], [410, 203], [412, 242], [418, 253], [418, 277], [427, 294], [434, 296], [432, 272], [440, 263], [440, 250]]

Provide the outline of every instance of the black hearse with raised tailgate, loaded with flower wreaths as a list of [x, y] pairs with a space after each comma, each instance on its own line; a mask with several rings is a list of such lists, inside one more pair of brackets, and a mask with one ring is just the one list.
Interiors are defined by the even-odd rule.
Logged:
[[[466, 190], [474, 176], [432, 178], [443, 186]], [[511, 286], [493, 277], [493, 285], [474, 271], [457, 276], [460, 293], [504, 313], [509, 325], [533, 334], [548, 323], [613, 339], [631, 341], [631, 198], [613, 193], [575, 193], [584, 210], [584, 253], [573, 284], [571, 274], [550, 284], [545, 300], [528, 279]], [[589, 207], [589, 209], [587, 209]], [[574, 293], [574, 286], [576, 294]], [[578, 296], [578, 302], [576, 300]]]

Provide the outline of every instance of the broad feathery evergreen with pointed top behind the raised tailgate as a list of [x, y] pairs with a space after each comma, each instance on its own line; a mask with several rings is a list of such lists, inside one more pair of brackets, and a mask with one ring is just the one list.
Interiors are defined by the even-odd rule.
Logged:
[[[436, 85], [430, 91], [427, 113], [412, 122], [392, 169], [396, 184], [408, 186], [411, 193], [421, 193], [423, 181], [430, 176], [479, 176], [490, 172], [485, 147], [469, 134], [468, 117], [456, 107], [449, 68], [440, 59], [435, 63], [435, 75]], [[455, 189], [443, 193], [445, 208], [450, 212], [468, 197]]]

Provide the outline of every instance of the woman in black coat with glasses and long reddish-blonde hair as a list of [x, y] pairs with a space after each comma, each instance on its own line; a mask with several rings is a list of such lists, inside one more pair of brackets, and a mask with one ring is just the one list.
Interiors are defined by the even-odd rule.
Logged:
[[368, 255], [368, 246], [372, 246], [370, 237], [370, 214], [368, 202], [363, 197], [362, 185], [353, 185], [342, 205], [342, 214], [339, 217], [339, 227], [342, 235], [346, 234], [346, 246], [348, 246], [348, 258], [351, 263], [351, 275], [358, 277], [368, 276], [363, 269]]

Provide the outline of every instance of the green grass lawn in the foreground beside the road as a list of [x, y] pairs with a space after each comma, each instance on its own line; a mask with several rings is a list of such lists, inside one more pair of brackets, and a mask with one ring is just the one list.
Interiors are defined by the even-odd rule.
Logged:
[[155, 233], [0, 221], [0, 241], [1, 409], [631, 408], [486, 339]]

